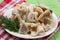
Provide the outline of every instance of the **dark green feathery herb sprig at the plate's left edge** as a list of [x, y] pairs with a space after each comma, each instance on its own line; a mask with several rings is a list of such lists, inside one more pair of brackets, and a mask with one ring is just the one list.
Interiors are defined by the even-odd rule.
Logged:
[[0, 17], [0, 23], [2, 23], [2, 26], [6, 29], [9, 29], [10, 31], [18, 32], [19, 26], [18, 26], [18, 19], [15, 18], [14, 20], [11, 20], [10, 18], [7, 18], [5, 16]]

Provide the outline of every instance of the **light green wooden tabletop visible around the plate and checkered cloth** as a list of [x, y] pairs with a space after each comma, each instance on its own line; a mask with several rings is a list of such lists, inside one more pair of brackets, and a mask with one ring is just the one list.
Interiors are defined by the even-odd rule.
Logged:
[[[3, 0], [0, 0], [2, 2]], [[26, 0], [28, 3], [31, 4], [38, 4], [37, 0]], [[39, 0], [40, 4], [44, 4], [52, 9], [57, 16], [60, 16], [60, 0]], [[58, 30], [50, 40], [60, 40], [60, 30]]]

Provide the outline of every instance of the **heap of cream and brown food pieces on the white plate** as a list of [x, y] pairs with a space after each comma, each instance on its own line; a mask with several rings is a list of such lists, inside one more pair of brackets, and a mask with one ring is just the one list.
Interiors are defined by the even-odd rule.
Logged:
[[[11, 23], [14, 24], [12, 20], [17, 19], [18, 24], [15, 22], [14, 25], [17, 25], [15, 29], [18, 28], [18, 33], [37, 36], [40, 35], [40, 33], [44, 33], [51, 29], [51, 24], [53, 21], [51, 15], [52, 12], [47, 7], [22, 3], [17, 4], [14, 7], [12, 16], [9, 18], [9, 20], [11, 20]], [[9, 25], [11, 25], [11, 23]], [[3, 26], [5, 26], [4, 23]], [[15, 30], [13, 26], [11, 27], [12, 31]]]

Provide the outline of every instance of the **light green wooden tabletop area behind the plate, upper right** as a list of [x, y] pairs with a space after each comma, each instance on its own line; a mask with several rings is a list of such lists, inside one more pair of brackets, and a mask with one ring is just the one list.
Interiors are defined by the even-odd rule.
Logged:
[[[44, 4], [52, 9], [57, 16], [60, 16], [60, 0], [38, 0], [40, 4]], [[28, 3], [38, 4], [37, 0], [27, 0]]]

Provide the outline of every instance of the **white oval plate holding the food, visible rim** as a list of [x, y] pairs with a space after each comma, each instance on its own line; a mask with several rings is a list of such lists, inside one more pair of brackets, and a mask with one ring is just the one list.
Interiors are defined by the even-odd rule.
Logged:
[[[10, 10], [7, 10], [7, 12], [5, 12], [4, 16], [7, 16], [8, 18], [11, 17], [12, 10], [13, 10], [13, 8], [10, 9]], [[56, 17], [56, 15], [55, 15], [55, 13], [52, 13], [52, 18], [53, 18], [52, 28], [51, 28], [49, 31], [45, 32], [43, 35], [39, 35], [39, 36], [33, 37], [33, 36], [31, 36], [31, 35], [19, 34], [19, 33], [10, 31], [10, 30], [8, 30], [8, 29], [5, 29], [5, 30], [6, 30], [9, 34], [14, 35], [14, 36], [19, 37], [19, 38], [25, 38], [25, 39], [42, 38], [42, 37], [45, 37], [45, 36], [51, 34], [51, 33], [54, 32], [55, 29], [57, 28], [58, 20], [57, 20], [57, 17]]]

